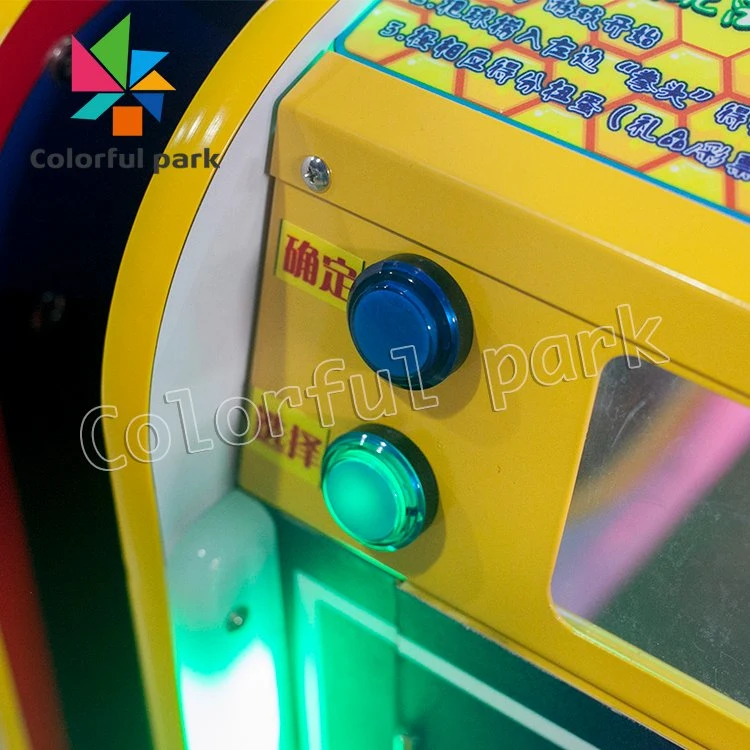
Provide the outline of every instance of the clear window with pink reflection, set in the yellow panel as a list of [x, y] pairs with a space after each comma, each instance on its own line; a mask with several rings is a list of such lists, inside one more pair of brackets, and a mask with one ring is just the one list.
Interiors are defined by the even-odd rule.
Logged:
[[552, 596], [750, 705], [750, 409], [609, 363]]

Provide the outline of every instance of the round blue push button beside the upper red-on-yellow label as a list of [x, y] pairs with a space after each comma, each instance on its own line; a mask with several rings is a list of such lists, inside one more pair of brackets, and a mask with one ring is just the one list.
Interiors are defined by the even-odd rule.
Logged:
[[469, 303], [453, 277], [419, 255], [396, 255], [360, 274], [349, 294], [349, 331], [375, 371], [400, 388], [441, 383], [466, 359]]

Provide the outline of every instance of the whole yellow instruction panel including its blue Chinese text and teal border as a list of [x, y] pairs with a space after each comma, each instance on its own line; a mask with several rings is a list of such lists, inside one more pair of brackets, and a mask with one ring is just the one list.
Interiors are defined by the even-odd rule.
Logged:
[[379, 0], [336, 50], [750, 220], [750, 0]]

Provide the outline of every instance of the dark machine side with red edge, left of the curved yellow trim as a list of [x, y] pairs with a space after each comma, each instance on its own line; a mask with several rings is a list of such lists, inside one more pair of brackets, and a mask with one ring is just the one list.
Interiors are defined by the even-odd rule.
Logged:
[[[60, 157], [39, 167], [38, 159], [106, 152], [116, 142], [111, 119], [72, 115], [109, 75], [87, 81], [97, 71], [85, 55], [128, 14], [141, 46], [189, 53], [161, 62], [174, 87], [170, 106], [160, 121], [146, 112], [155, 127], [135, 138], [160, 152], [258, 7], [0, 2], [3, 750], [151, 747], [111, 486], [82, 451], [80, 427], [101, 403], [112, 290], [152, 171], [60, 167]], [[72, 38], [84, 50], [82, 68]]]

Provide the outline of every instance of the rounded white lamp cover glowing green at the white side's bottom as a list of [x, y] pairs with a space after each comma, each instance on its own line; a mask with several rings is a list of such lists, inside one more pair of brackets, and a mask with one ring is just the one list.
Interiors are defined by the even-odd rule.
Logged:
[[167, 580], [188, 750], [287, 749], [283, 596], [268, 512], [242, 492], [225, 495], [175, 544]]

